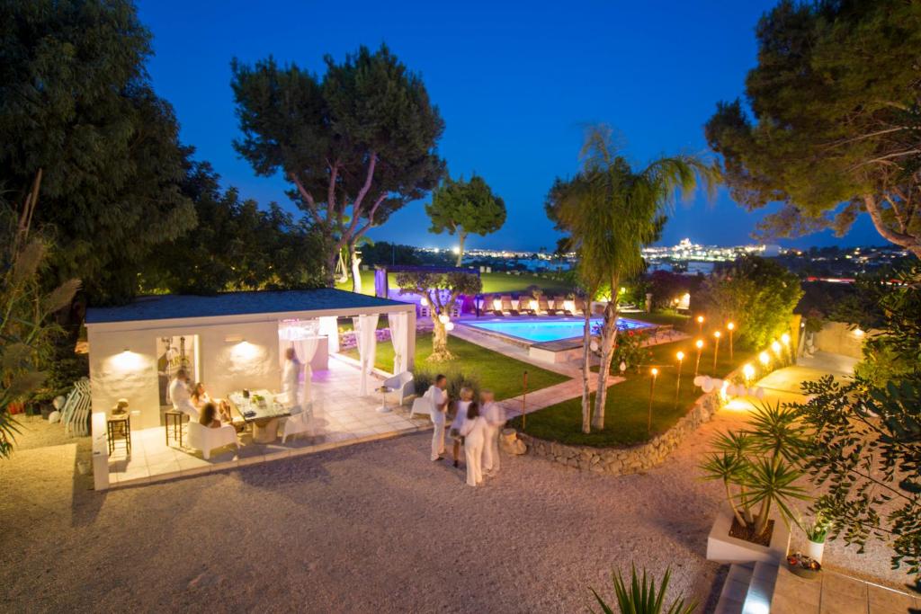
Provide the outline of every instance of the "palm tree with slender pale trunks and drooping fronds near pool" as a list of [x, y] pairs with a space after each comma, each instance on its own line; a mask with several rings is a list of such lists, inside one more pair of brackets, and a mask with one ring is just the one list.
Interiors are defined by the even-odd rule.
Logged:
[[[622, 280], [643, 271], [641, 249], [655, 240], [662, 214], [681, 194], [685, 196], [703, 180], [713, 191], [717, 170], [696, 156], [661, 157], [635, 171], [612, 145], [607, 126], [592, 126], [582, 145], [582, 167], [573, 180], [557, 180], [547, 202], [547, 211], [557, 227], [569, 234], [577, 251], [577, 272], [586, 290], [586, 302], [600, 290], [612, 290], [604, 308], [600, 328], [600, 366], [591, 427], [604, 428], [608, 372], [617, 336], [618, 294]], [[586, 313], [583, 350], [583, 425], [589, 432], [589, 338]]]

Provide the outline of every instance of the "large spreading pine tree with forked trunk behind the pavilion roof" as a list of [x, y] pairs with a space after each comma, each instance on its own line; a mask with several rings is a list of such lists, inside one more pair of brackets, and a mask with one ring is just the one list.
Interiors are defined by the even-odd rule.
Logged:
[[437, 185], [444, 122], [419, 75], [386, 46], [360, 47], [312, 75], [274, 58], [234, 60], [232, 87], [243, 137], [234, 142], [256, 173], [284, 174], [324, 238], [333, 284], [340, 249]]

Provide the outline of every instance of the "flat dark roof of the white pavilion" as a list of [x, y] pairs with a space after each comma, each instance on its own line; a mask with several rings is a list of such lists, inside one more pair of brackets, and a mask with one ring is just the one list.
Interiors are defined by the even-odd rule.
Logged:
[[147, 319], [210, 318], [287, 311], [321, 311], [408, 305], [378, 296], [358, 295], [335, 288], [225, 292], [218, 295], [138, 296], [118, 307], [87, 308], [87, 324]]

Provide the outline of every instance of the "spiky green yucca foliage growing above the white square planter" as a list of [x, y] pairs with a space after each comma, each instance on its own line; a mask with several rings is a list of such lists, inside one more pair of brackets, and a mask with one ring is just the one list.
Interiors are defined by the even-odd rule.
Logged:
[[700, 465], [705, 480], [723, 482], [736, 520], [756, 536], [767, 530], [772, 508], [789, 524], [791, 501], [809, 498], [796, 484], [803, 435], [792, 411], [764, 403], [752, 412], [750, 428], [717, 434], [714, 452]]

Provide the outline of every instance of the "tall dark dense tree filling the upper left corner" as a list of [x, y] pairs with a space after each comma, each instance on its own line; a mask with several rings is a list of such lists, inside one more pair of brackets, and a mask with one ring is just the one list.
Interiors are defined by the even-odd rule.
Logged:
[[42, 170], [49, 274], [79, 276], [96, 303], [134, 295], [151, 249], [195, 221], [150, 53], [127, 0], [0, 4], [0, 183], [21, 201]]

